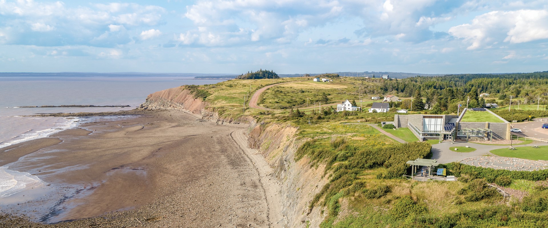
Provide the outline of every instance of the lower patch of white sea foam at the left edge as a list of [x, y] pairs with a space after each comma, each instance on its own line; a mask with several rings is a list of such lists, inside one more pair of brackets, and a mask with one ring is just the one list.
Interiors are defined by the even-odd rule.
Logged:
[[46, 183], [30, 173], [9, 170], [7, 166], [0, 167], [0, 198], [43, 184]]

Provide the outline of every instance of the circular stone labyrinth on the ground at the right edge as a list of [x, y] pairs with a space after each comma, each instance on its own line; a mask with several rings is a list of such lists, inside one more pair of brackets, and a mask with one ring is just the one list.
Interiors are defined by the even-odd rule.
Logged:
[[506, 169], [515, 171], [536, 171], [546, 169], [548, 167], [547, 163], [541, 161], [499, 156], [469, 157], [467, 159], [461, 160], [460, 163], [483, 168]]

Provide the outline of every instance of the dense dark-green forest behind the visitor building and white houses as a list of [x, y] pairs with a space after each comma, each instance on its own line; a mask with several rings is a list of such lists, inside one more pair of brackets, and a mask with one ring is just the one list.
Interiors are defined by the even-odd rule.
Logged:
[[[381, 84], [364, 84], [360, 93], [393, 94], [399, 97], [413, 97], [413, 104], [404, 100], [401, 108], [413, 111], [427, 109], [430, 114], [455, 113], [458, 104], [469, 108], [485, 107], [487, 103], [499, 105], [540, 104], [548, 98], [548, 72], [512, 74], [458, 74], [439, 77], [414, 77], [383, 81]], [[487, 99], [479, 96], [489, 93]], [[510, 96], [513, 100], [510, 101]]]

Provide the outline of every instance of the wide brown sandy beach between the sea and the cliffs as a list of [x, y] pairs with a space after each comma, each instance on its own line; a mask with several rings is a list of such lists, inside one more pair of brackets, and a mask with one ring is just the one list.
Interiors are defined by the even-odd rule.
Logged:
[[0, 165], [49, 184], [0, 199], [0, 227], [283, 224], [279, 184], [247, 126], [170, 110], [79, 127], [0, 149]]

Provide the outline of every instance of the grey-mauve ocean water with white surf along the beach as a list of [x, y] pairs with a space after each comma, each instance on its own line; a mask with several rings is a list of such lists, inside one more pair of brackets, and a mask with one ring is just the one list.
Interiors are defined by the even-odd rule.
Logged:
[[[24, 116], [36, 113], [111, 112], [130, 110], [156, 91], [181, 85], [215, 84], [222, 80], [182, 77], [0, 77], [0, 148], [47, 137], [84, 122], [122, 116], [80, 118]], [[122, 106], [127, 108], [16, 108], [61, 105]], [[2, 160], [2, 154], [0, 154]], [[24, 162], [24, 159], [16, 162]], [[14, 162], [14, 163], [16, 163]], [[0, 200], [45, 183], [24, 171], [0, 167]], [[14, 164], [15, 165], [15, 164]]]

